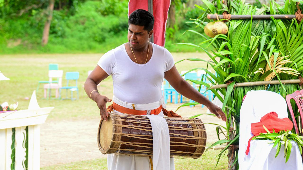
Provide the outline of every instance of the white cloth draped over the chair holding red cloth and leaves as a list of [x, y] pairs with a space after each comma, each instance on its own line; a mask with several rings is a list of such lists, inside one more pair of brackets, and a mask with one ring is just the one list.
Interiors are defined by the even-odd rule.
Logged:
[[288, 117], [284, 98], [275, 92], [251, 90], [246, 94], [240, 110], [240, 142], [239, 142], [239, 169], [241, 170], [303, 170], [300, 151], [296, 142], [291, 141], [291, 155], [285, 163], [284, 145], [277, 158], [277, 146], [273, 148], [270, 140], [252, 140], [249, 153], [245, 154], [248, 140], [253, 136], [251, 123], [259, 122], [261, 117], [269, 112], [276, 112], [279, 118]]

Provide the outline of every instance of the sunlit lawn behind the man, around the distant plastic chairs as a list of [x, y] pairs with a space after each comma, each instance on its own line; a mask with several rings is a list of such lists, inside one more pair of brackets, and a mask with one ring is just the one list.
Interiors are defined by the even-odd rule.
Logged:
[[[0, 56], [0, 71], [11, 80], [0, 81], [2, 93], [0, 102], [9, 104], [19, 102], [18, 109], [26, 109], [33, 90], [36, 90], [39, 80], [48, 80], [48, 64], [58, 63], [59, 70], [64, 71], [62, 85], [66, 84], [65, 73], [78, 71], [79, 100], [46, 100], [43, 97], [43, 84], [36, 92], [40, 107], [55, 107], [49, 115], [51, 119], [96, 118], [99, 110], [95, 102], [86, 95], [83, 86], [89, 70], [93, 70], [102, 54], [33, 54], [33, 55], [2, 55]], [[175, 61], [185, 57], [204, 57], [201, 53], [173, 53]], [[206, 66], [205, 63], [184, 61], [176, 64], [177, 69], [189, 70], [195, 66]], [[98, 91], [112, 98], [112, 78], [109, 76], [98, 86]], [[65, 97], [65, 91], [61, 92]], [[54, 97], [55, 90], [52, 91]], [[70, 93], [69, 93], [70, 95]]]

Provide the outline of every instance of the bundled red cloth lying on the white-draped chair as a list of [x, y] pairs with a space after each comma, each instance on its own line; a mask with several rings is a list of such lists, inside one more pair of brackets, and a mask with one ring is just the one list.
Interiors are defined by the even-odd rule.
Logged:
[[254, 135], [248, 140], [248, 146], [245, 151], [246, 155], [248, 155], [249, 147], [250, 147], [250, 141], [253, 137], [260, 135], [260, 133], [267, 133], [263, 127], [263, 125], [270, 131], [270, 133], [273, 132], [273, 129], [275, 129], [275, 132], [279, 132], [281, 130], [291, 130], [294, 126], [292, 122], [288, 119], [288, 117], [285, 117], [283, 119], [278, 118], [278, 114], [276, 112], [270, 112], [268, 114], [265, 114], [263, 117], [261, 117], [260, 122], [252, 123], [251, 124], [251, 133]]

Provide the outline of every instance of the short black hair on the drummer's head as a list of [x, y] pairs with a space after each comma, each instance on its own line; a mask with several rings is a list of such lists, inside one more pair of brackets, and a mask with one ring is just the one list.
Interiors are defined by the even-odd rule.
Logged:
[[148, 11], [145, 11], [144, 9], [137, 9], [134, 12], [129, 15], [128, 18], [128, 25], [139, 25], [144, 26], [144, 30], [150, 32], [152, 29], [154, 29], [154, 16], [149, 13]]

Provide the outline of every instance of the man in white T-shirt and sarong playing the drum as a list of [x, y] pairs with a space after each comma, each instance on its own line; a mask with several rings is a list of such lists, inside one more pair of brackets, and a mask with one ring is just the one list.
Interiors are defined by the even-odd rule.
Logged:
[[[221, 108], [212, 104], [180, 76], [171, 53], [148, 42], [153, 34], [153, 25], [152, 14], [142, 9], [134, 11], [128, 19], [128, 42], [105, 53], [88, 76], [84, 89], [97, 103], [101, 119], [107, 121], [106, 103], [112, 100], [98, 93], [97, 84], [112, 75], [113, 109], [116, 111], [125, 107], [131, 109], [132, 114], [137, 110], [158, 110], [164, 106], [161, 84], [165, 78], [180, 94], [205, 105], [213, 114], [226, 121]], [[163, 112], [155, 111], [154, 114]], [[108, 169], [150, 169], [148, 163], [148, 157], [108, 156]]]

